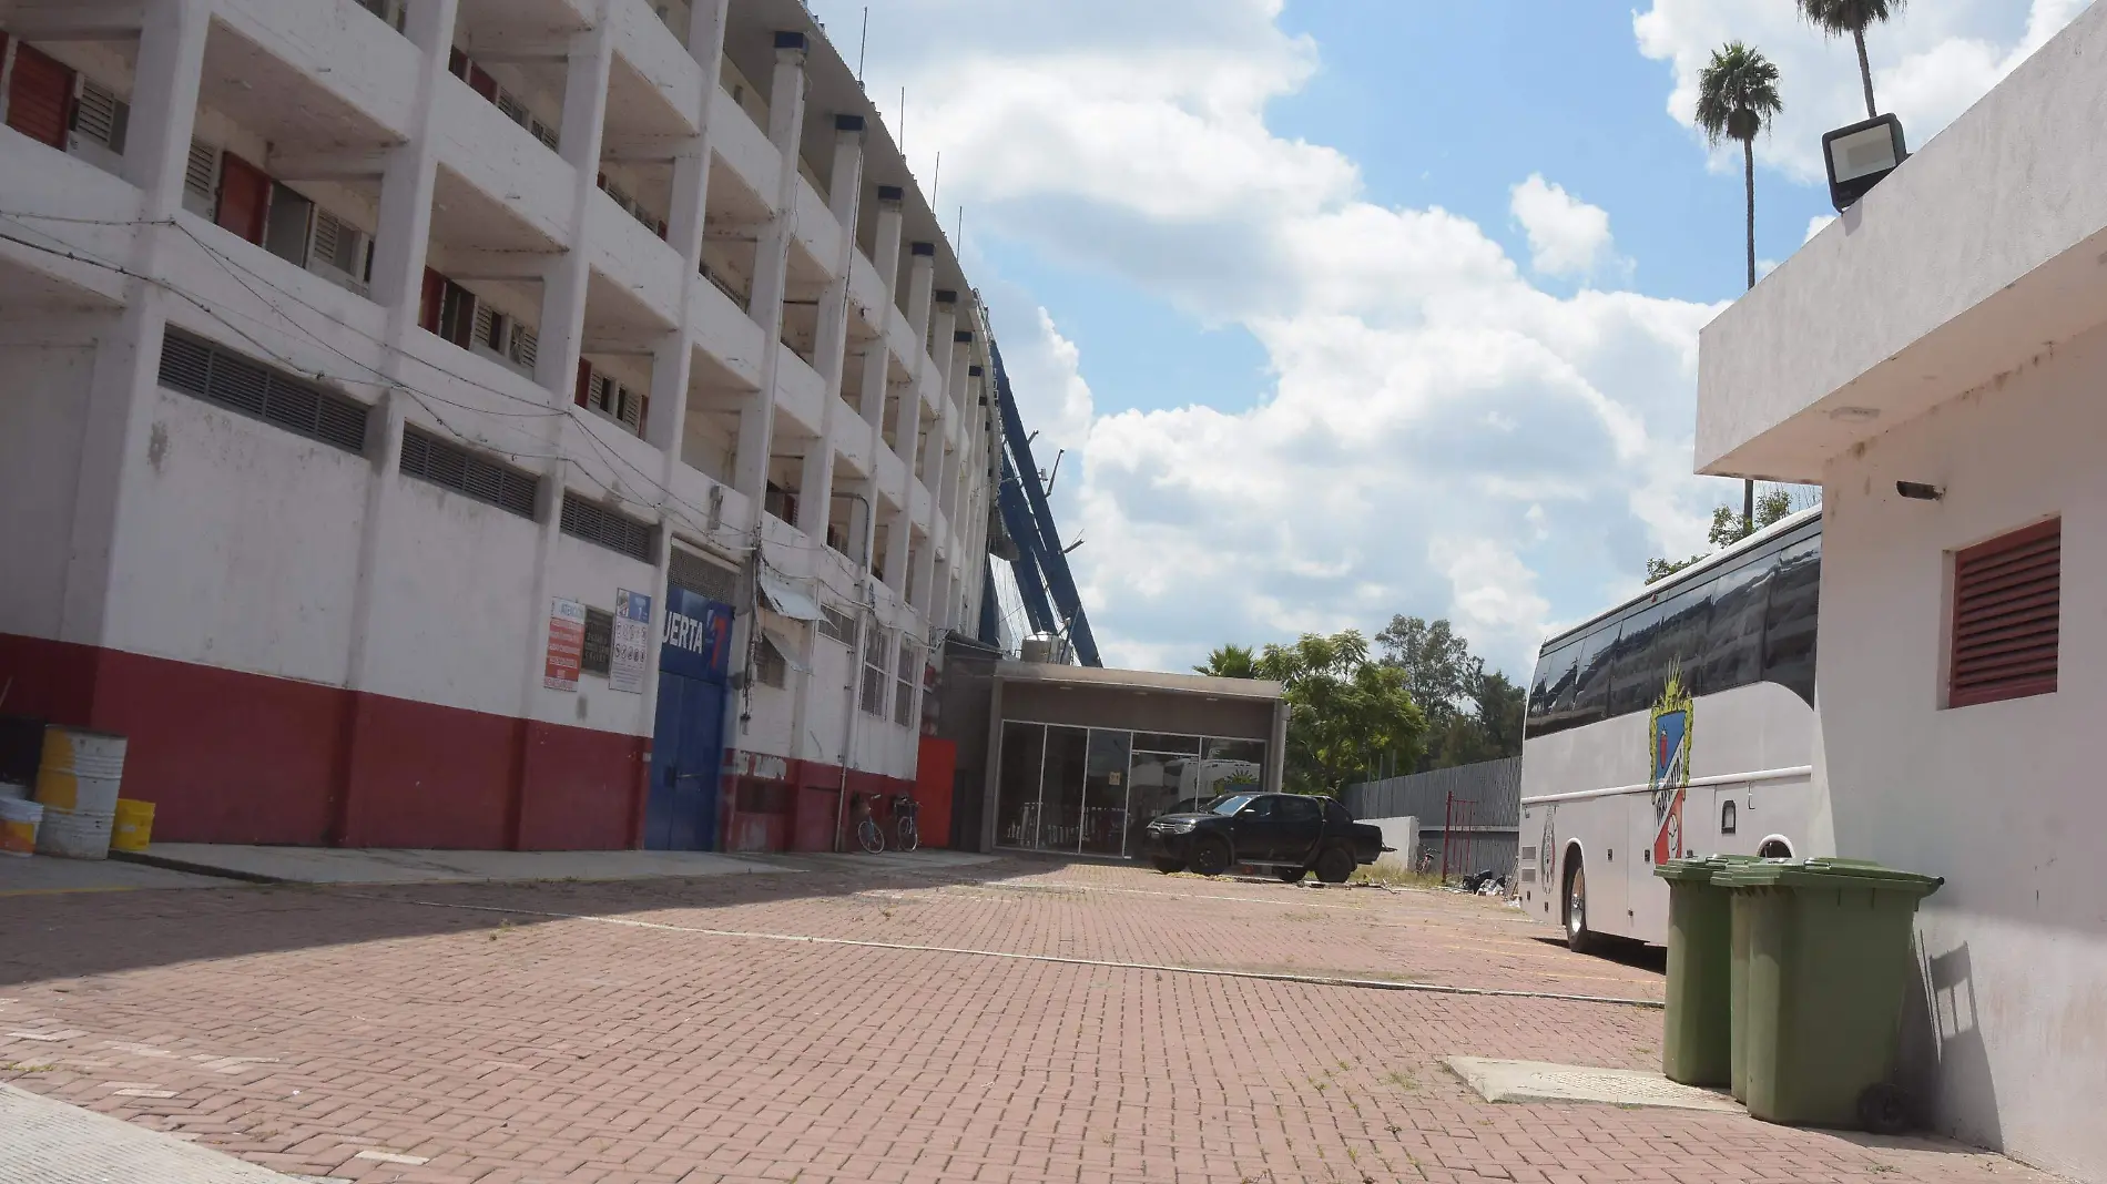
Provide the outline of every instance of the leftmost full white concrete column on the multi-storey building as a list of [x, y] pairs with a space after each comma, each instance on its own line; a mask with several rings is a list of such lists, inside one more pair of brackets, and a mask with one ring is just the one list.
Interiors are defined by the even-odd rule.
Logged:
[[[124, 179], [141, 190], [139, 219], [162, 223], [183, 209], [183, 171], [198, 120], [198, 80], [204, 74], [213, 4], [154, 0], [141, 17]], [[141, 225], [126, 265], [135, 274], [156, 276], [183, 249], [196, 251], [196, 244], [181, 230]], [[129, 280], [124, 312], [112, 318], [95, 346], [80, 438], [80, 497], [74, 506], [65, 607], [59, 619], [63, 640], [105, 645], [110, 638], [114, 575], [131, 533], [126, 508], [139, 495], [133, 470], [145, 463], [171, 299], [158, 284]]]

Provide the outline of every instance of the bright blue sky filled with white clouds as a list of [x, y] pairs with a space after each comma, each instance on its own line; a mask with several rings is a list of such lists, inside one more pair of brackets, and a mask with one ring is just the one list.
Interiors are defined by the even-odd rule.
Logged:
[[[1922, 147], [2088, 0], [1869, 34]], [[853, 59], [864, 0], [811, 0]], [[1536, 645], [1705, 550], [1698, 329], [1747, 287], [1726, 40], [1776, 61], [1759, 270], [1833, 213], [1856, 53], [1791, 0], [872, 0], [866, 86], [990, 308], [1110, 666], [1448, 617]], [[936, 156], [942, 154], [938, 173]]]

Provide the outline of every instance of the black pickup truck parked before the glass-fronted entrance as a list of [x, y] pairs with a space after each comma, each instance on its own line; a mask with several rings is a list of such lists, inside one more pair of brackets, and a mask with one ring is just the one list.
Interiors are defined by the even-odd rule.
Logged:
[[1266, 868], [1287, 883], [1308, 872], [1342, 885], [1361, 864], [1389, 851], [1382, 832], [1355, 822], [1332, 798], [1302, 794], [1226, 794], [1190, 813], [1148, 822], [1146, 857], [1159, 872], [1218, 876], [1239, 864]]

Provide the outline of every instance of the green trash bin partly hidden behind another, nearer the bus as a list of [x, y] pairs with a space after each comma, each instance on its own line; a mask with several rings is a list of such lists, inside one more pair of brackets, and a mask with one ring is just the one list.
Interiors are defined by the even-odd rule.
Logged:
[[1667, 1034], [1660, 1070], [1683, 1085], [1726, 1085], [1732, 1070], [1732, 908], [1713, 876], [1751, 855], [1669, 860], [1654, 874], [1669, 881]]

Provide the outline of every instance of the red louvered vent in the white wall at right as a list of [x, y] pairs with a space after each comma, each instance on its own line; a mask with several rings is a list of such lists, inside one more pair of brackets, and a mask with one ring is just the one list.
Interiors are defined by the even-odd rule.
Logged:
[[1947, 706], [2056, 689], [2063, 518], [1953, 556], [1953, 655]]

